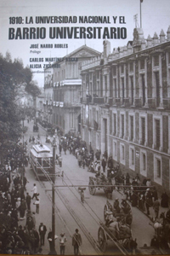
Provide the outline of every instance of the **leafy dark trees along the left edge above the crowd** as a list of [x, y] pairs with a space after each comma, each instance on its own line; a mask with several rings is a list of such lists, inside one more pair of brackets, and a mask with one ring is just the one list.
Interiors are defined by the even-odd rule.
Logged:
[[14, 148], [22, 135], [21, 120], [23, 110], [18, 101], [26, 94], [38, 96], [41, 93], [37, 83], [32, 80], [29, 67], [22, 60], [14, 59], [7, 52], [0, 54], [0, 154], [1, 161]]

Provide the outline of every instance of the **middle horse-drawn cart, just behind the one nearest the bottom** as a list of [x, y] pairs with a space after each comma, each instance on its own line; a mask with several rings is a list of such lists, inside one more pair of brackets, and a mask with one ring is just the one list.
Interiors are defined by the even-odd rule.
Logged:
[[113, 217], [121, 218], [122, 222], [128, 225], [131, 225], [133, 222], [133, 213], [131, 206], [128, 204], [127, 201], [124, 201], [124, 206], [123, 208], [120, 208], [119, 211], [117, 211], [110, 203], [110, 201], [107, 200], [105, 207], [104, 207], [104, 218], [106, 220], [107, 218], [107, 212], [110, 211], [113, 214]]

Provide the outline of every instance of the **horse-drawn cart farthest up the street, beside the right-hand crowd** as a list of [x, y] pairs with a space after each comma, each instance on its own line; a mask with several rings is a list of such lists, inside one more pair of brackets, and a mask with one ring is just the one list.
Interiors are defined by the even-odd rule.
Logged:
[[[95, 195], [96, 189], [104, 189], [106, 195], [112, 195], [114, 187], [104, 174], [99, 177], [89, 177], [88, 189], [90, 195]], [[111, 199], [111, 197], [110, 197]]]

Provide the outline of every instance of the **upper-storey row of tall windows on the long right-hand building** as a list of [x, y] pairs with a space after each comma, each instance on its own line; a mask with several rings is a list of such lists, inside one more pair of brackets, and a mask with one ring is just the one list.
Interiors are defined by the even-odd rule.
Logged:
[[[142, 101], [142, 106], [145, 106], [148, 98], [156, 98], [156, 108], [158, 108], [160, 107], [160, 103], [162, 103], [162, 98], [166, 98], [170, 94], [168, 89], [168, 84], [170, 84], [170, 53], [167, 54], [167, 89], [162, 90], [162, 56], [153, 56], [151, 60], [153, 65], [150, 78], [147, 73], [146, 65], [148, 60], [145, 58], [139, 61], [138, 79], [136, 78], [136, 73], [134, 72], [135, 62], [131, 61], [128, 63], [128, 77], [125, 75], [125, 64], [122, 64], [120, 67], [111, 67], [112, 78], [110, 77], [109, 73], [107, 73], [103, 76], [103, 82], [102, 79], [98, 79], [99, 71], [97, 71], [96, 76], [94, 73], [89, 73], [89, 81], [88, 75], [86, 76], [86, 81], [85, 77], [82, 77], [82, 91], [84, 93], [89, 93], [92, 96], [105, 96], [106, 99], [109, 96], [113, 98], [121, 98], [122, 105], [124, 104], [125, 99], [129, 99], [129, 103], [134, 105], [134, 99], [139, 98]], [[151, 79], [151, 87], [148, 85], [148, 79]]]

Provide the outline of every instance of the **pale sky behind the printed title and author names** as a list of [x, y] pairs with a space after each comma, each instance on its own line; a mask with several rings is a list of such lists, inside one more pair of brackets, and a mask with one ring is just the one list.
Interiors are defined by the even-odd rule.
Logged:
[[[103, 51], [103, 41], [101, 38], [91, 39], [59, 39], [49, 38], [49, 27], [57, 26], [78, 26], [78, 27], [125, 27], [127, 31], [126, 38], [108, 39], [111, 42], [111, 51], [113, 48], [122, 47], [129, 40], [133, 40], [133, 29], [135, 27], [134, 15], [138, 15], [138, 24], [140, 26], [140, 0], [0, 0], [0, 53], [5, 55], [10, 52], [12, 59], [21, 58], [24, 66], [35, 64], [30, 62], [30, 58], [45, 57], [63, 57], [70, 54], [73, 50], [86, 44], [88, 47]], [[161, 29], [167, 35], [167, 28], [170, 26], [170, 0], [143, 0], [141, 3], [142, 28], [144, 38], [153, 38], [156, 32], [158, 37]], [[53, 23], [53, 24], [36, 24], [36, 17], [39, 16], [77, 16], [77, 23]], [[79, 23], [79, 16], [106, 16], [110, 18], [109, 24], [89, 24]], [[116, 16], [116, 23], [113, 22], [112, 16]], [[119, 22], [120, 16], [124, 17], [124, 22]], [[21, 17], [23, 24], [9, 24], [10, 17]], [[32, 17], [33, 23], [26, 24]], [[14, 19], [16, 21], [16, 19]], [[8, 39], [9, 28], [14, 29], [14, 35], [17, 28], [22, 32], [23, 27], [45, 27], [46, 37], [44, 39]], [[31, 44], [68, 44], [68, 48], [52, 49], [30, 49]], [[31, 50], [41, 51], [39, 54], [31, 53]], [[42, 62], [42, 64], [47, 62]], [[33, 72], [42, 69], [31, 69]], [[43, 87], [43, 73], [34, 73], [33, 79], [37, 80], [40, 87]]]

